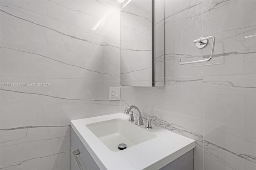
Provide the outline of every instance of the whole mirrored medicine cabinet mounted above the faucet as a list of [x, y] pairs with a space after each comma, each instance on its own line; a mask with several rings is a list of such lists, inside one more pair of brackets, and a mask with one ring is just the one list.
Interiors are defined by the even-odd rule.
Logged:
[[127, 0], [121, 10], [121, 85], [164, 86], [164, 1]]

